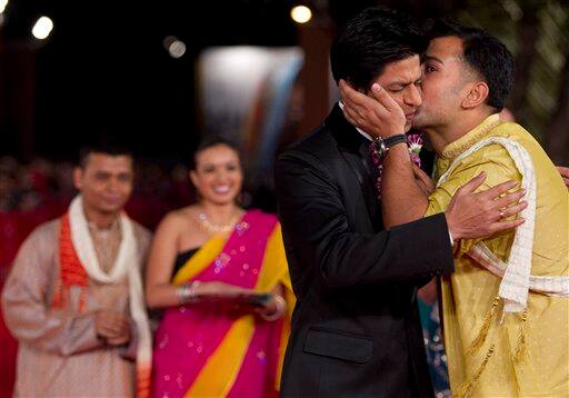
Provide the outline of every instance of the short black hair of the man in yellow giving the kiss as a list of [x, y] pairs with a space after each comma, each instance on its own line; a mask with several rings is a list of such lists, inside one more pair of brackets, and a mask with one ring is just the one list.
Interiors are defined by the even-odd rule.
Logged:
[[429, 40], [457, 37], [462, 40], [463, 57], [468, 66], [488, 84], [488, 103], [499, 112], [503, 109], [516, 74], [513, 56], [497, 38], [483, 29], [467, 27], [452, 20], [437, 20], [428, 33]]

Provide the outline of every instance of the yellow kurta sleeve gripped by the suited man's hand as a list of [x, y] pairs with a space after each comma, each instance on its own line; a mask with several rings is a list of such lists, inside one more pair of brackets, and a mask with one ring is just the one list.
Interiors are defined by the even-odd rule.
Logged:
[[[425, 217], [446, 211], [455, 192], [482, 171], [486, 172], [487, 178], [477, 191], [487, 190], [508, 180], [521, 181], [521, 176], [517, 171], [513, 160], [502, 146], [491, 145], [485, 147], [463, 159], [452, 175], [431, 193]], [[502, 236], [503, 235], [510, 236], [509, 243], [511, 245], [513, 238], [512, 232], [510, 231], [502, 233]], [[486, 238], [485, 240], [491, 238], [492, 237]], [[461, 240], [457, 255], [460, 256], [467, 252], [480, 240], [481, 239]]]

